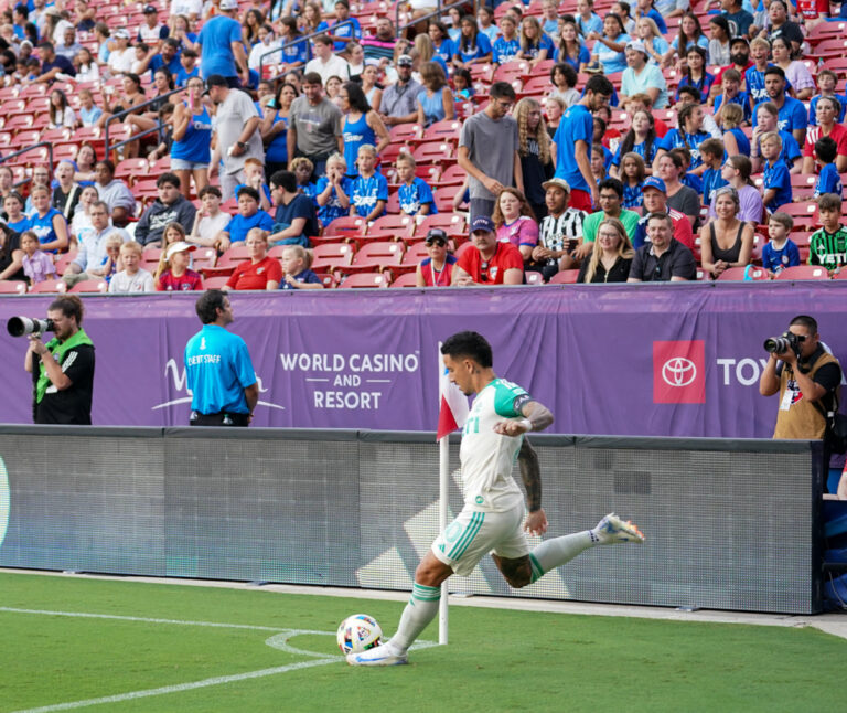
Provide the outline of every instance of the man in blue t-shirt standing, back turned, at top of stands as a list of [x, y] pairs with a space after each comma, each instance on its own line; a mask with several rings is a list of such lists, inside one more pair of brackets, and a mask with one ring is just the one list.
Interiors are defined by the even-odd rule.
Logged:
[[230, 87], [247, 86], [250, 71], [242, 43], [242, 24], [235, 19], [238, 0], [221, 0], [219, 8], [221, 14], [207, 20], [197, 36], [200, 73], [206, 79], [219, 75]]

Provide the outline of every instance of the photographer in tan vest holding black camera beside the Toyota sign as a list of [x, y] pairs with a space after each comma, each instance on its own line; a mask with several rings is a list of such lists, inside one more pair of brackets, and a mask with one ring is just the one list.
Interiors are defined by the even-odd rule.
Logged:
[[762, 396], [780, 394], [774, 438], [824, 440], [828, 467], [827, 414], [838, 406], [841, 366], [821, 344], [817, 322], [806, 315], [791, 320], [781, 337], [768, 339], [771, 356], [759, 380]]

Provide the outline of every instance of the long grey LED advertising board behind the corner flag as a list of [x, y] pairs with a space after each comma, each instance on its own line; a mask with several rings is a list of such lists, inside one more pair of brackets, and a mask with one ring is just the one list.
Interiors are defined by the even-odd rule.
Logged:
[[[646, 544], [590, 550], [519, 592], [486, 558], [451, 590], [819, 610], [816, 444], [532, 443], [548, 536], [615, 511]], [[8, 567], [410, 589], [438, 530], [431, 434], [0, 426], [0, 458]]]

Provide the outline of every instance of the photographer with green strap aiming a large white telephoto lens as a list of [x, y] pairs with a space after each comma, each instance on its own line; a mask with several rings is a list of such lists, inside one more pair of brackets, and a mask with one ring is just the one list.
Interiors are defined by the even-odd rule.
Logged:
[[[9, 320], [9, 333], [29, 337], [23, 368], [32, 374], [32, 415], [36, 424], [92, 423], [94, 344], [82, 321], [83, 302], [76, 295], [53, 300], [46, 320]], [[55, 334], [46, 344], [41, 340], [45, 331]]]

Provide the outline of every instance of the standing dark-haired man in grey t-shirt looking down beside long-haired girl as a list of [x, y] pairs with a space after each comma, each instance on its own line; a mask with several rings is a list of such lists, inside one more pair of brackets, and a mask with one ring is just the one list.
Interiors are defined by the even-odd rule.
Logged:
[[506, 82], [495, 82], [490, 97], [485, 109], [464, 123], [459, 137], [459, 166], [469, 177], [471, 221], [490, 217], [504, 188], [524, 190], [517, 121], [508, 114], [515, 91]]

